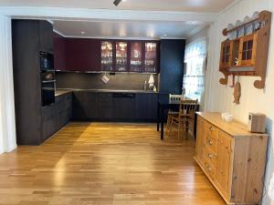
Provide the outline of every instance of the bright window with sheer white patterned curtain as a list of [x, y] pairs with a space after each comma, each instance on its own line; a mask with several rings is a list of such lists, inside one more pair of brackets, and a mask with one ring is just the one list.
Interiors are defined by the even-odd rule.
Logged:
[[204, 94], [205, 84], [205, 52], [206, 41], [199, 40], [185, 47], [184, 53], [184, 96], [192, 99], [201, 99]]

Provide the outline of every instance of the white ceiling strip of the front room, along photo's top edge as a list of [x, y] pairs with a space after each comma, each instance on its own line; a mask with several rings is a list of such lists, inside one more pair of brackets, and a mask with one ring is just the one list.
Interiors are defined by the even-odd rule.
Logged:
[[236, 1], [237, 0], [126, 0], [116, 7], [112, 4], [113, 0], [0, 0], [0, 5], [217, 13]]

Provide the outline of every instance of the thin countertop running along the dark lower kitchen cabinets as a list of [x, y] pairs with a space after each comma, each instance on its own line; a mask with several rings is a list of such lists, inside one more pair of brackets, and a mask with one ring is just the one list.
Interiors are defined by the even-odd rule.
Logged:
[[98, 92], [98, 93], [151, 93], [158, 94], [158, 92], [154, 92], [153, 90], [118, 90], [118, 89], [57, 89], [55, 96], [58, 97], [60, 95], [67, 94], [69, 92], [80, 92], [80, 91], [88, 91], [88, 92]]

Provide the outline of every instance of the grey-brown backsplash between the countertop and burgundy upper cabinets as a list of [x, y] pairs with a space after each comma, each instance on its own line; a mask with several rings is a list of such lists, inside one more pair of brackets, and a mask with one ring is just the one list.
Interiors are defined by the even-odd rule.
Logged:
[[[108, 84], [101, 81], [102, 73], [67, 73], [57, 72], [57, 88], [77, 89], [121, 89], [142, 90], [144, 81], [149, 81], [150, 74], [116, 73], [115, 76], [107, 74], [110, 78]], [[158, 76], [153, 75], [155, 86], [158, 90]]]

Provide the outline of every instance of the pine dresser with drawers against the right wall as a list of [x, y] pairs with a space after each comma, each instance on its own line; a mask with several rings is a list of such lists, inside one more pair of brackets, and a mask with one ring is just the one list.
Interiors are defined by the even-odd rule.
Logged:
[[258, 204], [262, 197], [267, 134], [227, 123], [220, 113], [197, 113], [195, 161], [227, 204]]

